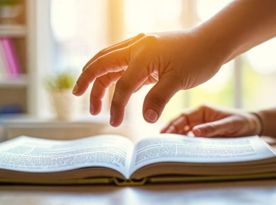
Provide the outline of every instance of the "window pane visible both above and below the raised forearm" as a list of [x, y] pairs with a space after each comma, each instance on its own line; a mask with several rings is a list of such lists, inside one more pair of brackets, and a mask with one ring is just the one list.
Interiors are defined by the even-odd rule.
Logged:
[[[200, 24], [229, 4], [229, 0], [196, 1], [197, 22]], [[204, 84], [191, 89], [190, 107], [195, 108], [205, 103], [216, 106], [234, 106], [234, 62], [223, 65], [218, 73]]]

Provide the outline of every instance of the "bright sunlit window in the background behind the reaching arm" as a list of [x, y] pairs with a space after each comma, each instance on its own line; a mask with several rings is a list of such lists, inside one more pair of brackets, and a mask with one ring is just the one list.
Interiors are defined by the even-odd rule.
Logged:
[[[179, 30], [196, 26], [230, 2], [52, 0], [53, 67], [55, 70], [71, 68], [80, 72], [91, 56], [110, 44], [140, 32]], [[206, 83], [189, 91], [179, 91], [165, 108], [159, 122], [164, 124], [183, 110], [203, 103], [245, 109], [275, 105], [275, 53], [276, 39], [271, 39], [224, 65]], [[131, 97], [126, 114], [131, 123], [147, 126], [142, 117], [142, 105], [149, 89], [150, 86], [145, 87]], [[88, 113], [87, 99], [85, 105]], [[105, 109], [108, 110], [107, 108], [108, 106]]]

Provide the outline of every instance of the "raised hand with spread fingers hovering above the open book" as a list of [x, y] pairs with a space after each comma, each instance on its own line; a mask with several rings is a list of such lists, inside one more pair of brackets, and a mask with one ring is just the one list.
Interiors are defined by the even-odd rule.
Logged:
[[[170, 98], [210, 79], [229, 56], [199, 30], [139, 34], [100, 51], [84, 66], [73, 94], [82, 95], [94, 80], [90, 113], [102, 108], [106, 88], [116, 83], [110, 108], [110, 124], [117, 127], [132, 93], [155, 84], [145, 97], [143, 115], [155, 122]], [[225, 45], [224, 45], [225, 47]]]

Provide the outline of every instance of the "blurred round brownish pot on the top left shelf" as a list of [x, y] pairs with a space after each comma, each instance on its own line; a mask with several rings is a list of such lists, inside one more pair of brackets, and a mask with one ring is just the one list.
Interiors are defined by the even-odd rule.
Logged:
[[0, 0], [1, 23], [16, 23], [21, 10], [21, 0]]

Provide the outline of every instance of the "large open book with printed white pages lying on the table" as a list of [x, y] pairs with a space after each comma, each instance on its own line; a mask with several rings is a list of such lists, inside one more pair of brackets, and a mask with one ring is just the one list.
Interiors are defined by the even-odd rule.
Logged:
[[76, 140], [20, 136], [0, 144], [0, 182], [40, 184], [233, 180], [276, 177], [276, 153], [258, 136], [161, 134]]

